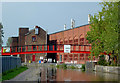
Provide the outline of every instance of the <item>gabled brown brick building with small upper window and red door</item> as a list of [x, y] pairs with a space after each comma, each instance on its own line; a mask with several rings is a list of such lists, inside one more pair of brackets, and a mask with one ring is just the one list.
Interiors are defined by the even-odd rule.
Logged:
[[[32, 45], [33, 50], [37, 50], [36, 45], [46, 45], [47, 44], [47, 34], [42, 28], [36, 26], [35, 29], [30, 30], [27, 34], [25, 34], [25, 45]], [[28, 46], [28, 50], [31, 49], [31, 46]], [[41, 46], [38, 47], [41, 50]], [[46, 49], [46, 47], [44, 48]], [[45, 58], [46, 53], [34, 53], [34, 54], [26, 54], [26, 62], [35, 61], [38, 62], [41, 58]], [[34, 58], [34, 60], [33, 60]]]

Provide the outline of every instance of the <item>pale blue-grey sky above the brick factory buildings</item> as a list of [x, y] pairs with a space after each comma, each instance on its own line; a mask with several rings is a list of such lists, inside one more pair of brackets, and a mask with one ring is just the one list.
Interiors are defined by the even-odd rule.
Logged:
[[19, 27], [32, 29], [38, 25], [53, 33], [63, 30], [64, 24], [69, 29], [71, 18], [75, 19], [75, 26], [85, 25], [88, 14], [93, 15], [98, 11], [101, 11], [98, 2], [3, 2], [3, 45], [8, 37], [18, 36]]

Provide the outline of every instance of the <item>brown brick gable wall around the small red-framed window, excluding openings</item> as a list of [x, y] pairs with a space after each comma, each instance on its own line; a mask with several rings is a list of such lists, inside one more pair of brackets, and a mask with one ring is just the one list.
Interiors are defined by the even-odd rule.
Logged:
[[[42, 28], [39, 27], [39, 34], [35, 34], [35, 29], [31, 30], [29, 33], [25, 35], [25, 45], [41, 45], [46, 44], [46, 31], [44, 31]], [[33, 41], [32, 37], [36, 37], [36, 40]], [[32, 46], [28, 46], [28, 50], [31, 50]], [[41, 49], [41, 46], [39, 46], [39, 50]], [[37, 50], [37, 46], [35, 46], [35, 49]], [[35, 54], [26, 54], [27, 62], [29, 60], [32, 61], [32, 55], [35, 55], [35, 62], [38, 62], [40, 60], [40, 56], [45, 56], [45, 53], [35, 53]]]

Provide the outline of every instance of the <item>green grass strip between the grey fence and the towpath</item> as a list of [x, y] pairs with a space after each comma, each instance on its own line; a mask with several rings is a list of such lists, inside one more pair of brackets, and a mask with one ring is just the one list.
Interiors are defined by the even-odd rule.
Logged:
[[16, 77], [18, 74], [22, 73], [23, 71], [27, 70], [28, 68], [26, 66], [22, 66], [19, 68], [15, 68], [6, 72], [2, 73], [2, 81], [4, 80], [10, 80], [14, 77]]

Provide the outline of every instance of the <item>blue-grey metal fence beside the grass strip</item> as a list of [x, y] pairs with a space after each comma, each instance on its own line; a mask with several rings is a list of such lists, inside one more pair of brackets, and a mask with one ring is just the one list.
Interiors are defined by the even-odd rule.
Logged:
[[2, 67], [2, 72], [21, 66], [21, 58], [19, 57], [0, 56], [0, 60], [2, 60], [2, 65], [0, 65], [0, 67]]

